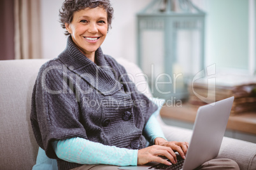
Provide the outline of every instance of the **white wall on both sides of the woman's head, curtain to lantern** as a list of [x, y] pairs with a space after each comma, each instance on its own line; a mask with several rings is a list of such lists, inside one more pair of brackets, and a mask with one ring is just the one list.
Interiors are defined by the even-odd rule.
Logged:
[[[151, 0], [112, 0], [112, 29], [101, 46], [105, 54], [136, 62], [136, 13]], [[42, 56], [55, 58], [66, 47], [64, 29], [60, 27], [59, 8], [63, 0], [41, 0]]]

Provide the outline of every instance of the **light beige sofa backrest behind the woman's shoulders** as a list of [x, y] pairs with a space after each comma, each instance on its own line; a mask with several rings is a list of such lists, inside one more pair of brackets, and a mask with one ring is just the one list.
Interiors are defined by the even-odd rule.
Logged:
[[[0, 61], [0, 169], [32, 169], [38, 145], [32, 133], [31, 95], [39, 68], [47, 60]], [[117, 58], [139, 91], [151, 96], [141, 70]]]

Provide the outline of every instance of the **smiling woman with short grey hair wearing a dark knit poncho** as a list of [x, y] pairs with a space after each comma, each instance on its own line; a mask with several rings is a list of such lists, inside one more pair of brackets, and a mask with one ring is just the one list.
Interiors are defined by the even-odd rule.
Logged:
[[69, 35], [67, 47], [39, 70], [32, 129], [59, 169], [94, 164], [117, 169], [152, 161], [171, 165], [176, 151], [185, 159], [188, 143], [164, 138], [152, 115], [159, 112], [156, 105], [136, 90], [124, 67], [103, 55], [100, 46], [112, 15], [109, 0], [64, 1], [60, 22]]

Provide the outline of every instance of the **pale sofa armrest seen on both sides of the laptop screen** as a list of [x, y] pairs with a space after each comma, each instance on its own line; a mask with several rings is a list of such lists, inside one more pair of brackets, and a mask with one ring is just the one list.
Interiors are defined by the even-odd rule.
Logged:
[[[190, 141], [192, 130], [167, 126], [158, 118], [168, 141]], [[228, 158], [236, 161], [240, 169], [256, 168], [256, 144], [243, 140], [224, 137], [217, 158]]]

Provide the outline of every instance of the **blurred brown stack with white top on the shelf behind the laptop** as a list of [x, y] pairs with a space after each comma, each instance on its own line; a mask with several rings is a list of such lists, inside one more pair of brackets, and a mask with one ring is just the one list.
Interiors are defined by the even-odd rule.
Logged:
[[196, 106], [234, 96], [231, 115], [256, 111], [255, 77], [218, 75], [211, 79], [198, 79], [188, 83], [188, 103]]

